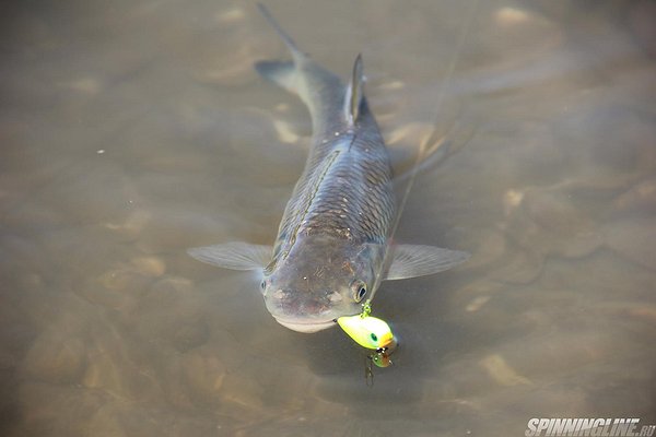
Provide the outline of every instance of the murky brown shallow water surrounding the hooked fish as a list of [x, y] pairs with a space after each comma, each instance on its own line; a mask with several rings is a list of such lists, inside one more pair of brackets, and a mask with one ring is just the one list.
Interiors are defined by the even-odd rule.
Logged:
[[363, 54], [395, 155], [434, 125], [459, 147], [397, 239], [473, 257], [384, 284], [401, 349], [371, 389], [342, 332], [285, 330], [247, 274], [185, 253], [270, 244], [305, 160], [307, 114], [251, 69], [286, 56], [256, 9], [3, 7], [2, 435], [656, 422], [654, 4], [479, 3], [449, 81], [471, 3], [268, 4], [331, 70]]

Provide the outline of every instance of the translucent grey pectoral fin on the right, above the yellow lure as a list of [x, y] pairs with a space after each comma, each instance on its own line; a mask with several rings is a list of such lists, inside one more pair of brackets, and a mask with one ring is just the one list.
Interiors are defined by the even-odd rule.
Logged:
[[469, 258], [459, 250], [434, 246], [398, 245], [393, 248], [393, 260], [385, 280], [403, 280], [448, 270]]

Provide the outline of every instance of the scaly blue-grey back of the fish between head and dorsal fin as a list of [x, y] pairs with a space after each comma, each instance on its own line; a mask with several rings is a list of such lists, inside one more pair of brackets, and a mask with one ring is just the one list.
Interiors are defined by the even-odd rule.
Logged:
[[[360, 129], [377, 130], [365, 103], [360, 117]], [[384, 243], [395, 216], [395, 199], [389, 156], [380, 135], [350, 133], [313, 144], [319, 150], [311, 153], [288, 202], [277, 252], [289, 252], [300, 234], [321, 234], [354, 244]]]

